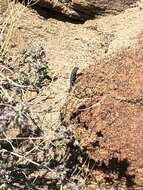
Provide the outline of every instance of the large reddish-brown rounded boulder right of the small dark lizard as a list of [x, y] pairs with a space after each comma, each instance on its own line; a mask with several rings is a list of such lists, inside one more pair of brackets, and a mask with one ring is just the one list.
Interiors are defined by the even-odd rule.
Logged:
[[61, 119], [91, 159], [143, 188], [143, 50], [105, 57], [77, 80]]

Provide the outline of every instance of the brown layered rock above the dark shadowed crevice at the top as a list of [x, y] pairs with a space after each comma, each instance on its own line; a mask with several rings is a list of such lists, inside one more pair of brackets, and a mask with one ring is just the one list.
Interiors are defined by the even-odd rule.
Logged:
[[40, 0], [43, 7], [54, 9], [68, 17], [86, 20], [105, 12], [119, 13], [130, 7], [137, 0]]

